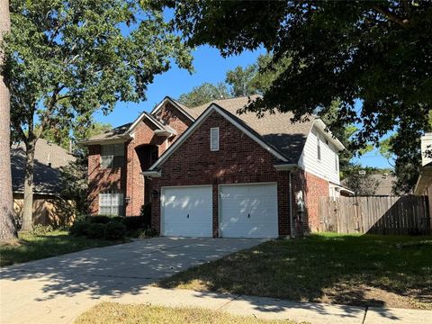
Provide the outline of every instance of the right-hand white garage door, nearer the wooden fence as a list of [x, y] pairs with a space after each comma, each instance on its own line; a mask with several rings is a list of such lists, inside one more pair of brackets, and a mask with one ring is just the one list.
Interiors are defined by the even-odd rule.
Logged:
[[277, 184], [220, 186], [222, 238], [276, 238]]

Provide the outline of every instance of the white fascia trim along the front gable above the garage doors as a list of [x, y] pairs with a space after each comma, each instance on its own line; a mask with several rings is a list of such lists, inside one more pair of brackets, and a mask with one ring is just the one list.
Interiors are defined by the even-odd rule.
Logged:
[[148, 168], [148, 170], [153, 170], [153, 169], [157, 168], [158, 166], [160, 166], [162, 163], [164, 163], [166, 161], [166, 159], [168, 157], [170, 157], [175, 152], [175, 149], [177, 149], [180, 145], [182, 145], [184, 143], [184, 141], [186, 139], [189, 138], [189, 136], [193, 133], [193, 130], [196, 130], [199, 126], [201, 126], [202, 122], [205, 121], [205, 119], [211, 114], [211, 112], [218, 112], [222, 117], [224, 117], [229, 122], [231, 122], [239, 130], [242, 130], [249, 138], [257, 141], [257, 143], [261, 147], [265, 148], [272, 155], [274, 155], [275, 157], [279, 158], [280, 160], [282, 160], [284, 162], [287, 162], [286, 157], [284, 157], [281, 154], [279, 154], [278, 152], [276, 152], [274, 148], [269, 147], [266, 144], [266, 142], [264, 142], [262, 139], [257, 138], [257, 136], [255, 134], [251, 133], [245, 127], [240, 125], [237, 121], [232, 119], [229, 116], [229, 114], [227, 112], [224, 112], [222, 109], [220, 109], [220, 107], [216, 103], [211, 103], [209, 108], [207, 108], [204, 112], [202, 112], [201, 116], [195, 122], [193, 122], [193, 124], [186, 131], [184, 131], [183, 135], [179, 139], [177, 139], [174, 142], [174, 144], [170, 148], [168, 148], [165, 151], [165, 153], [162, 154], [162, 156], [159, 157], [159, 159], [157, 159], [157, 161], [152, 166], [150, 166]]

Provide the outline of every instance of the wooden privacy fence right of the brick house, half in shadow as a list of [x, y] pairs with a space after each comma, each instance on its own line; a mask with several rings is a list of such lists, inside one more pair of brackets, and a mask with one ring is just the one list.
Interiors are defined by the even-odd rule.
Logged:
[[321, 197], [320, 227], [337, 233], [431, 234], [424, 196]]

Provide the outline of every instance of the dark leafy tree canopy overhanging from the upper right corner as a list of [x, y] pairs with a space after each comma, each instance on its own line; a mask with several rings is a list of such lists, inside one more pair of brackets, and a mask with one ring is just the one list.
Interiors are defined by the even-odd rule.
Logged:
[[[391, 130], [424, 130], [432, 103], [432, 3], [426, 1], [163, 1], [191, 46], [222, 55], [264, 47], [268, 68], [291, 64], [251, 112], [328, 111], [336, 126], [361, 123], [352, 144]], [[360, 100], [361, 108], [356, 106]], [[358, 111], [357, 111], [358, 110]], [[330, 125], [334, 126], [334, 125]], [[416, 136], [418, 134], [415, 134]], [[412, 138], [413, 136], [410, 136]]]

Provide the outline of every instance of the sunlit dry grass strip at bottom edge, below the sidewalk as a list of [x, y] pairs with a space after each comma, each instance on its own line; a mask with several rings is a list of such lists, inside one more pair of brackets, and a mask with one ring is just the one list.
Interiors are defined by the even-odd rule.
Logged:
[[292, 320], [258, 320], [255, 317], [232, 316], [221, 311], [207, 311], [197, 308], [166, 308], [148, 305], [123, 305], [102, 302], [85, 311], [75, 324], [295, 324]]

